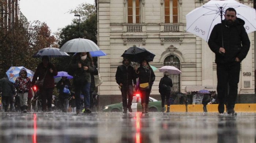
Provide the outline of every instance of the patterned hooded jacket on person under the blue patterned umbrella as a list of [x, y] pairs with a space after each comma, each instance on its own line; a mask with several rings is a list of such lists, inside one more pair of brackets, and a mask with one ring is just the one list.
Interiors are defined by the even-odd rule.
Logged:
[[[25, 72], [26, 75], [22, 78], [21, 74]], [[20, 69], [19, 77], [15, 80], [14, 86], [18, 90], [19, 93], [29, 92], [31, 87], [31, 80], [27, 77], [27, 71], [25, 68]]]

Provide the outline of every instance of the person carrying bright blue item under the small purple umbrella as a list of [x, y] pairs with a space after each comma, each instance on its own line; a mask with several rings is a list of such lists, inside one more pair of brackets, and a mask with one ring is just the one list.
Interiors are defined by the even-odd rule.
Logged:
[[59, 90], [59, 99], [62, 112], [68, 112], [68, 98], [70, 93], [63, 92], [64, 87], [68, 88], [69, 90], [71, 87], [70, 81], [67, 79], [67, 76], [62, 76], [56, 87]]

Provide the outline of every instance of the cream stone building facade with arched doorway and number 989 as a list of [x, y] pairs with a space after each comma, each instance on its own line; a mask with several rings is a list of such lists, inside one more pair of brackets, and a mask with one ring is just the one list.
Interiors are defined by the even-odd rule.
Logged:
[[[115, 80], [122, 53], [133, 45], [144, 47], [156, 56], [151, 65], [173, 65], [182, 71], [171, 75], [173, 91], [214, 88], [217, 86], [215, 55], [206, 41], [186, 32], [187, 15], [208, 0], [98, 0], [98, 45], [108, 55], [99, 57], [103, 83], [101, 97], [121, 95]], [[240, 0], [253, 7], [253, 1]], [[255, 94], [254, 33], [249, 33], [251, 48], [242, 61], [238, 94]], [[163, 73], [155, 71], [151, 95], [159, 96], [158, 84]], [[121, 100], [119, 100], [121, 101]], [[113, 102], [112, 102], [113, 103]]]

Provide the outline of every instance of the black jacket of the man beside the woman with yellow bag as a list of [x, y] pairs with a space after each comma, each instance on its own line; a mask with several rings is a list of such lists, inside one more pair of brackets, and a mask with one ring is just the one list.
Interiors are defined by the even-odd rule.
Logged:
[[136, 84], [136, 75], [131, 65], [119, 65], [116, 70], [116, 83], [122, 83], [124, 86]]

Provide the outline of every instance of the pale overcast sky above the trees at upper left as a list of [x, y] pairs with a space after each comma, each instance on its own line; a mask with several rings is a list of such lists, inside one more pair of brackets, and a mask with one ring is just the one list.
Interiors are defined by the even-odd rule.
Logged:
[[68, 11], [85, 2], [94, 4], [94, 0], [20, 0], [20, 11], [28, 21], [45, 22], [53, 33], [71, 24], [75, 16]]

